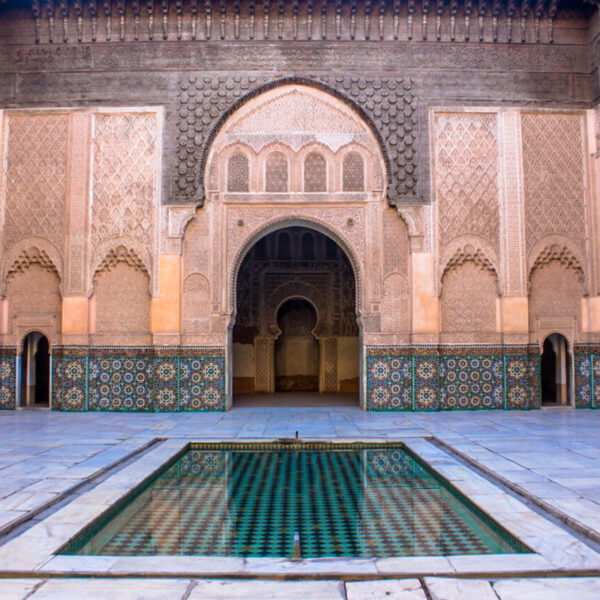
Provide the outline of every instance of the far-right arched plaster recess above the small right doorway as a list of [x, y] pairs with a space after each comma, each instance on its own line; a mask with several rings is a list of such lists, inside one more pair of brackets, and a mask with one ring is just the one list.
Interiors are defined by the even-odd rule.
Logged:
[[584, 271], [567, 244], [549, 244], [537, 253], [529, 272], [529, 331], [541, 344], [554, 331], [575, 341], [581, 331]]

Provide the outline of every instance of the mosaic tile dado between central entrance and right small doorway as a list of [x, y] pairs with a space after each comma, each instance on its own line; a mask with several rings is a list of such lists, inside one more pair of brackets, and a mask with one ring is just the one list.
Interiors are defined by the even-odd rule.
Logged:
[[367, 348], [368, 410], [540, 405], [537, 346]]

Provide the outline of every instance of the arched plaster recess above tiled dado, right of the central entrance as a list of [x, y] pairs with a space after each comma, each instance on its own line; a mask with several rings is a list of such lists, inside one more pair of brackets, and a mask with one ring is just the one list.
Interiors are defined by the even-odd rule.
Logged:
[[499, 341], [498, 276], [491, 261], [467, 244], [446, 263], [441, 288], [441, 341]]

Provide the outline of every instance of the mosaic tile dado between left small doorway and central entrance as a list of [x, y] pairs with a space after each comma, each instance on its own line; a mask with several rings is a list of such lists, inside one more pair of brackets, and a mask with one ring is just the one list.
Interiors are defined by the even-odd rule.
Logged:
[[52, 406], [64, 411], [225, 410], [225, 349], [61, 347]]

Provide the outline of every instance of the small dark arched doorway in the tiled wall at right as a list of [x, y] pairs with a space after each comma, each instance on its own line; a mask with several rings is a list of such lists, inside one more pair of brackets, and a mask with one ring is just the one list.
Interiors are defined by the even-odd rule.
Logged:
[[569, 404], [570, 383], [571, 356], [567, 338], [560, 333], [552, 333], [544, 340], [542, 352], [542, 404]]

